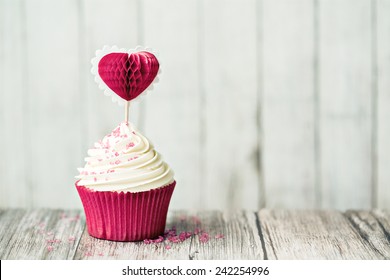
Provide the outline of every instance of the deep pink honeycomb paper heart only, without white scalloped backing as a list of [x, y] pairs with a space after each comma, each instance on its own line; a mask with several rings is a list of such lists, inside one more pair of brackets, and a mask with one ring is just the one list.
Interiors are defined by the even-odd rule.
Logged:
[[157, 58], [150, 52], [109, 53], [98, 64], [103, 82], [118, 96], [130, 101], [137, 98], [156, 78]]

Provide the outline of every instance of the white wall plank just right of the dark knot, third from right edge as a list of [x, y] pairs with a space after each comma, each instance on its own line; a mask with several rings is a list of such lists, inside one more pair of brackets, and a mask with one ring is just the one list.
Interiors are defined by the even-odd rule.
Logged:
[[318, 204], [313, 12], [311, 0], [263, 1], [262, 166], [271, 208]]

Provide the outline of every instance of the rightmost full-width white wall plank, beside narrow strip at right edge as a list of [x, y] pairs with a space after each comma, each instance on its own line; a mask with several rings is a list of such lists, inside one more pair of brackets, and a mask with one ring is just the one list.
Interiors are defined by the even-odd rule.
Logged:
[[319, 1], [322, 206], [371, 205], [371, 1]]

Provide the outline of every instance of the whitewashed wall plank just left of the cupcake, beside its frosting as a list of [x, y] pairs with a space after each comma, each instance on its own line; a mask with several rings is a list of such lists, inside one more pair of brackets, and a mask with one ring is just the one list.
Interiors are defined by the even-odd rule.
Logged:
[[[75, 207], [81, 155], [76, 0], [26, 1], [28, 111], [32, 206]], [[50, 38], [50, 40], [48, 40]], [[55, 73], [55, 74], [53, 74]], [[44, 159], [44, 160], [43, 160]], [[53, 191], [53, 189], [55, 189]]]

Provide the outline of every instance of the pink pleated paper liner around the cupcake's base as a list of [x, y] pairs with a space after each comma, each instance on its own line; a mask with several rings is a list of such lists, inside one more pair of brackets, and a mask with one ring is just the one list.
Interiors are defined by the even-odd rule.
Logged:
[[114, 241], [138, 241], [163, 235], [176, 181], [144, 192], [94, 191], [76, 188], [84, 207], [88, 233]]

